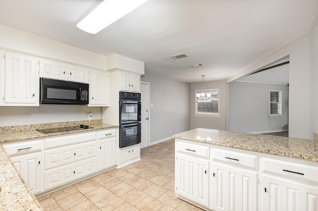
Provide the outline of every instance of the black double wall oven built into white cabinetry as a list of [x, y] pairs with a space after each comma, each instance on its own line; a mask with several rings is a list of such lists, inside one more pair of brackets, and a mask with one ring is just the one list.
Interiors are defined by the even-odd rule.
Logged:
[[140, 93], [119, 92], [119, 148], [141, 142]]

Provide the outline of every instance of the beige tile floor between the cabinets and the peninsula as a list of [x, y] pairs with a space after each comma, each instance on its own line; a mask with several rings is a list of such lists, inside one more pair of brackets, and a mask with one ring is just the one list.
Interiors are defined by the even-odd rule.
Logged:
[[141, 149], [141, 160], [39, 197], [44, 211], [200, 211], [175, 197], [174, 139]]

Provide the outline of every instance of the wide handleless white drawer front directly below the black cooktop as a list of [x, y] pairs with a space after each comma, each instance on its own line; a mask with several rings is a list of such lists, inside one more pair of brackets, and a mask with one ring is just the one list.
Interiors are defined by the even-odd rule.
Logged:
[[78, 134], [63, 135], [59, 137], [45, 139], [45, 149], [95, 140], [96, 132], [84, 132]]

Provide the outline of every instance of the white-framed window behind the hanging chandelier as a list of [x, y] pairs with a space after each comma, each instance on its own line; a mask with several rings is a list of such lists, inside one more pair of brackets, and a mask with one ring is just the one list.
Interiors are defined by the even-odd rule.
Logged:
[[[201, 94], [202, 90], [197, 90], [195, 94]], [[204, 90], [205, 94], [211, 94], [208, 100], [196, 98], [196, 115], [219, 115], [219, 89]]]

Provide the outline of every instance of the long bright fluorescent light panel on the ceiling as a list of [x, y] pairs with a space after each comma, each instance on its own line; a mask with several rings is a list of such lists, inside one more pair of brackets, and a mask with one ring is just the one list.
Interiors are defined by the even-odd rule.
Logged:
[[76, 26], [96, 34], [148, 0], [104, 0]]

